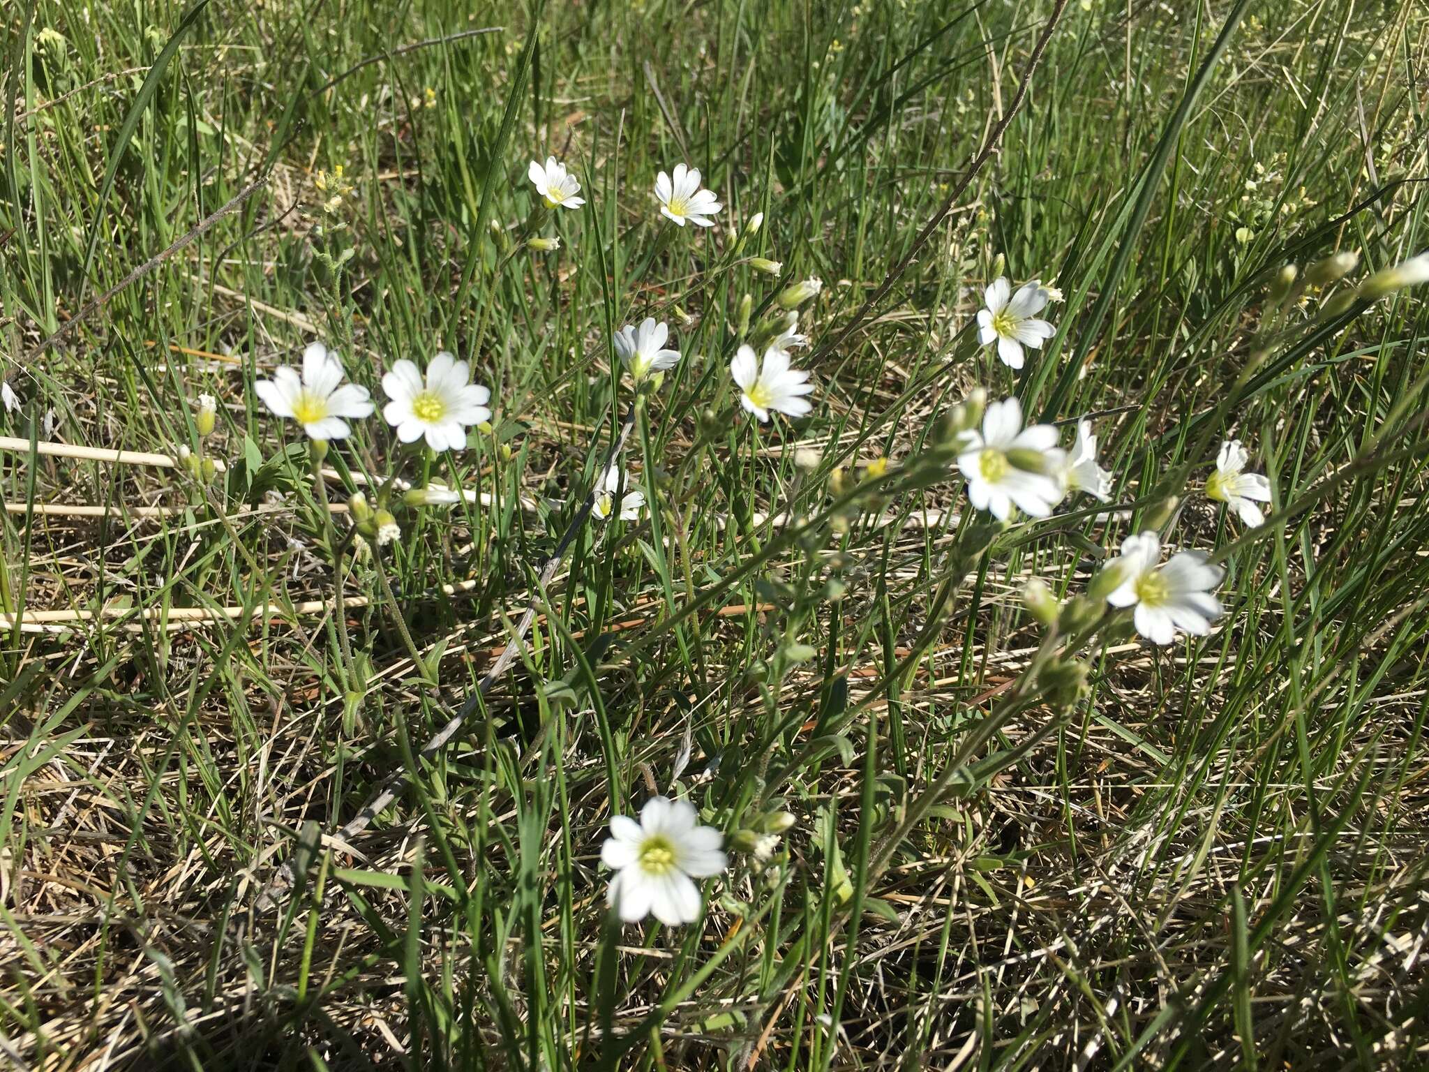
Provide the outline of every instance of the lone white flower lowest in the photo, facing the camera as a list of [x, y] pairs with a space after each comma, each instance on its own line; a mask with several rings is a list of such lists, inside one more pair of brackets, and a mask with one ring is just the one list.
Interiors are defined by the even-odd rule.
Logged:
[[652, 912], [666, 926], [693, 923], [700, 918], [700, 890], [693, 879], [729, 866], [723, 842], [713, 826], [699, 825], [689, 800], [653, 796], [640, 809], [640, 822], [612, 816], [610, 838], [600, 846], [600, 862], [616, 872], [606, 903], [626, 923]]

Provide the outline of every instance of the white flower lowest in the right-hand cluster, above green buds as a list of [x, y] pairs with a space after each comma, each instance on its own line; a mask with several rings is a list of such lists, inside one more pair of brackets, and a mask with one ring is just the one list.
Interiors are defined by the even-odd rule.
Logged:
[[1106, 597], [1112, 606], [1136, 607], [1136, 632], [1152, 643], [1169, 645], [1176, 630], [1205, 636], [1210, 620], [1220, 616], [1220, 600], [1210, 590], [1225, 570], [1212, 566], [1199, 550], [1183, 550], [1160, 562], [1160, 540], [1155, 532], [1127, 536], [1122, 553], [1107, 563], [1119, 570], [1120, 585]]

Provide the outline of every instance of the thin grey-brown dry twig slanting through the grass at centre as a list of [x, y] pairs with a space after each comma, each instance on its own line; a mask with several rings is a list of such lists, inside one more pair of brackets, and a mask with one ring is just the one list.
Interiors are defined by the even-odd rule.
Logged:
[[[546, 565], [542, 567], [540, 575], [536, 579], [536, 585], [532, 589], [530, 602], [526, 605], [526, 613], [522, 615], [522, 620], [517, 623], [512, 639], [507, 642], [506, 647], [502, 650], [500, 657], [492, 665], [492, 669], [486, 672], [486, 676], [476, 686], [476, 692], [462, 705], [462, 709], [453, 715], [447, 723], [422, 746], [422, 752], [417, 753], [420, 760], [433, 759], [447, 742], [456, 736], [457, 730], [462, 729], [463, 723], [476, 710], [480, 703], [482, 696], [484, 696], [496, 682], [499, 682], [506, 672], [516, 662], [516, 656], [524, 649], [526, 633], [530, 632], [532, 623], [536, 620], [536, 612], [539, 610], [546, 586], [550, 585], [552, 579], [556, 576], [556, 569], [560, 566], [562, 560], [566, 557], [566, 552], [570, 549], [572, 540], [576, 539], [576, 533], [584, 526], [586, 519], [590, 517], [590, 512], [596, 505], [596, 497], [600, 495], [606, 475], [616, 465], [620, 457], [620, 452], [624, 450], [626, 440], [630, 437], [630, 430], [634, 427], [634, 406], [626, 415], [624, 423], [620, 426], [620, 433], [616, 436], [614, 443], [610, 445], [610, 450], [606, 452], [604, 465], [600, 466], [596, 480], [586, 495], [584, 502], [576, 512], [576, 516], [570, 519], [570, 525], [566, 526], [566, 532], [562, 533], [560, 540], [556, 543], [556, 549], [552, 552], [550, 557], [546, 559]], [[412, 779], [417, 775], [416, 770], [406, 770], [397, 768], [390, 775], [387, 775], [382, 786], [376, 793], [363, 805], [362, 810], [357, 812], [353, 819], [347, 822], [336, 835], [334, 840], [352, 842], [353, 838], [360, 835], [372, 820], [382, 815], [387, 806], [396, 800], [402, 793], [407, 790], [412, 785]], [[267, 885], [257, 898], [257, 909], [266, 912], [270, 908], [276, 908], [282, 903], [283, 895], [293, 888], [293, 862], [286, 860], [277, 873], [269, 879]]]

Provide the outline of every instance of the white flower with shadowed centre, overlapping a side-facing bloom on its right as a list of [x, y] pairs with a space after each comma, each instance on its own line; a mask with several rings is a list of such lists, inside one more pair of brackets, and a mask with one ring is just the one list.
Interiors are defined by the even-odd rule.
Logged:
[[[1062, 502], [1062, 483], [1056, 475], [1066, 466], [1066, 452], [1057, 449], [1057, 430], [1050, 425], [1022, 427], [1022, 403], [1017, 399], [987, 406], [982, 433], [963, 432], [957, 447], [957, 467], [967, 479], [967, 499], [979, 510], [992, 512], [997, 520], [1007, 520], [1013, 506], [1033, 517], [1046, 517]], [[1015, 465], [1015, 460], [1022, 465]]]

